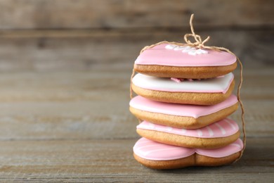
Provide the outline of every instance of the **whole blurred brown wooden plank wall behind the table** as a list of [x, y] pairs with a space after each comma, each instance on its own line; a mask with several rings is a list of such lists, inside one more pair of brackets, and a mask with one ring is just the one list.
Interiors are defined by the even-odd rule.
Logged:
[[272, 0], [1, 0], [0, 70], [86, 70], [132, 65], [143, 46], [197, 34], [247, 67], [273, 65]]

